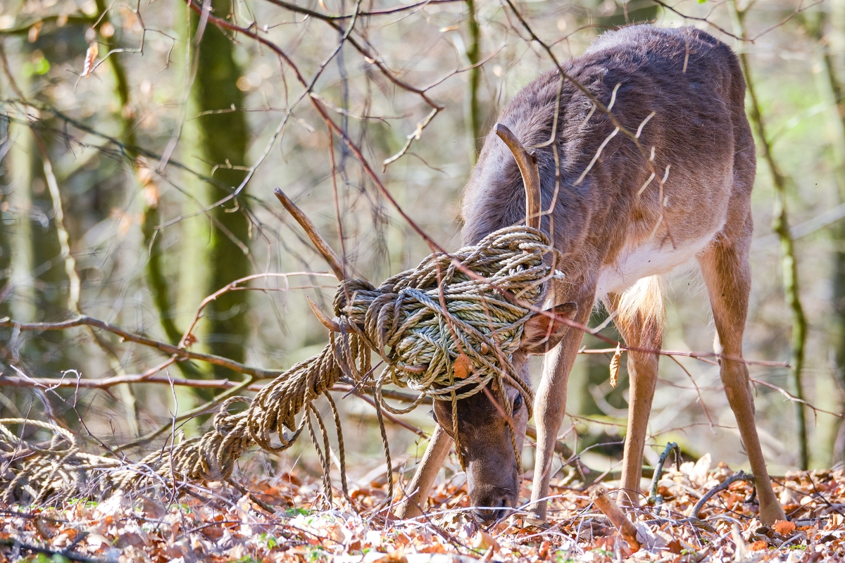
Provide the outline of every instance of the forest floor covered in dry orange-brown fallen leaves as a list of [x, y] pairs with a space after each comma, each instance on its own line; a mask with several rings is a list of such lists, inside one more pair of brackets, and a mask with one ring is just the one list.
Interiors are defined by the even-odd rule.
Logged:
[[[11, 561], [810, 561], [845, 560], [845, 473], [773, 479], [789, 521], [763, 525], [750, 483], [737, 480], [689, 512], [735, 473], [724, 464], [667, 468], [662, 503], [635, 515], [634, 549], [577, 482], [553, 485], [550, 526], [524, 515], [480, 527], [467, 509], [462, 474], [436, 485], [429, 512], [385, 519], [381, 481], [335, 490], [324, 506], [320, 479], [282, 474], [241, 485], [211, 483], [171, 496], [117, 494], [101, 502], [0, 505], [0, 560]], [[612, 485], [612, 484], [606, 484]], [[239, 491], [240, 489], [240, 491]], [[527, 490], [523, 490], [526, 494]], [[398, 494], [397, 494], [398, 497]]]

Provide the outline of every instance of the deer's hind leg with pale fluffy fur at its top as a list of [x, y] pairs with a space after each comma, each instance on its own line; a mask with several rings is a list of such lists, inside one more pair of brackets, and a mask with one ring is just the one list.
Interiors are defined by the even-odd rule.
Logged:
[[[607, 305], [608, 309], [617, 313], [614, 322], [626, 345], [640, 349], [660, 349], [664, 317], [660, 276], [643, 278], [622, 295], [608, 295]], [[660, 355], [635, 351], [627, 354], [630, 397], [619, 500], [637, 506], [640, 501], [642, 452], [646, 447], [648, 418], [657, 386], [657, 361]]]

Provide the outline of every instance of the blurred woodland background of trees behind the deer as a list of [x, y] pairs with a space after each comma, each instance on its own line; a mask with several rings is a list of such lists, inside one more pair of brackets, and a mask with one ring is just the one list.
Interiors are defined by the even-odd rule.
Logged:
[[[352, 275], [379, 284], [431, 249], [362, 159], [420, 228], [455, 249], [461, 189], [481, 139], [517, 91], [553, 68], [547, 47], [565, 63], [627, 22], [694, 25], [742, 54], [755, 89], [750, 115], [759, 111], [745, 356], [793, 366], [803, 356], [798, 374], [750, 366], [770, 472], [842, 463], [845, 2], [204, 4], [260, 41], [221, 30], [181, 0], [2, 3], [0, 318], [56, 322], [85, 314], [178, 344], [205, 296], [245, 276], [288, 273], [256, 276], [239, 286], [248, 290], [211, 300], [191, 331], [191, 349], [268, 370], [290, 367], [326, 343], [305, 297], [330, 311], [335, 279], [317, 274], [328, 268], [273, 187], [308, 214]], [[314, 100], [356, 150], [330, 135]], [[666, 305], [664, 348], [711, 351], [697, 266], [668, 277]], [[591, 326], [605, 317], [595, 311]], [[617, 338], [612, 323], [604, 333]], [[584, 346], [608, 344], [587, 336]], [[244, 378], [202, 362], [150, 372], [167, 357], [91, 328], [0, 328], [0, 417], [49, 417], [109, 445], [167, 425], [125, 450], [140, 457], [169, 439], [174, 415], [214, 390], [158, 383], [47, 389], [20, 387], [21, 380], [119, 381], [145, 372]], [[561, 430], [570, 450], [598, 470], [618, 468], [627, 415], [624, 362], [613, 388], [610, 357], [579, 357]], [[541, 365], [535, 360], [535, 379]], [[717, 365], [664, 357], [660, 374], [646, 463], [678, 441], [690, 457], [709, 452], [714, 463], [747, 468]], [[351, 473], [378, 472], [384, 457], [373, 408], [356, 397], [340, 405]], [[320, 409], [330, 413], [326, 404]], [[423, 406], [402, 420], [430, 433], [429, 411]], [[177, 428], [195, 436], [200, 425], [208, 422]], [[387, 430], [395, 458], [412, 467], [425, 441], [393, 422]], [[250, 459], [244, 463], [270, 474], [319, 472], [304, 440], [281, 456]], [[531, 447], [524, 463], [532, 467]]]

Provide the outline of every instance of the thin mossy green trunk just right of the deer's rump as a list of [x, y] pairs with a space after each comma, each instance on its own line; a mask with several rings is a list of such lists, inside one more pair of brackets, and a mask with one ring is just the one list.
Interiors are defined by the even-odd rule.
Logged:
[[[745, 10], [736, 8], [733, 3], [736, 24], [739, 28], [739, 35], [745, 36]], [[747, 8], [746, 8], [747, 9]], [[807, 318], [804, 316], [804, 307], [801, 305], [798, 263], [795, 259], [795, 244], [792, 233], [789, 230], [787, 215], [787, 178], [777, 165], [774, 155], [771, 153], [771, 143], [766, 137], [766, 124], [760, 111], [760, 102], [757, 98], [755, 84], [751, 77], [751, 67], [748, 54], [740, 51], [739, 62], [742, 65], [745, 75], [745, 83], [748, 87], [750, 99], [749, 116], [751, 127], [757, 137], [763, 160], [771, 175], [771, 183], [775, 188], [775, 201], [771, 229], [775, 231], [781, 243], [781, 268], [783, 275], [783, 292], [786, 296], [787, 305], [792, 311], [793, 335], [792, 335], [792, 358], [793, 366], [793, 394], [799, 400], [804, 400], [804, 386], [802, 384], [802, 371], [804, 369], [804, 349], [807, 343]], [[795, 414], [798, 427], [799, 440], [799, 468], [807, 469], [810, 466], [810, 451], [807, 443], [807, 421], [804, 415], [804, 404], [796, 402]]]

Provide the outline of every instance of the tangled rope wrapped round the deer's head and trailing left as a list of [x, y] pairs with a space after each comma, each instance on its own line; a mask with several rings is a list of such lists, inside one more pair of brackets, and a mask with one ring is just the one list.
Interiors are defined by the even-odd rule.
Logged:
[[[556, 259], [544, 260], [549, 255], [556, 257], [557, 251], [540, 230], [508, 227], [493, 232], [476, 246], [466, 246], [452, 255], [434, 253], [417, 268], [399, 273], [379, 287], [360, 279], [341, 282], [333, 303], [340, 331], [330, 334], [329, 344], [319, 355], [294, 365], [275, 378], [251, 402], [244, 397], [227, 399], [214, 417], [213, 430], [203, 436], [145, 457], [141, 465], [149, 465], [155, 474], [140, 473], [137, 469], [112, 471], [110, 486], [128, 488], [156, 476], [167, 480], [228, 479], [237, 459], [249, 447], [257, 445], [267, 452], [281, 452], [297, 441], [307, 425], [319, 451], [326, 499], [330, 501], [329, 440], [323, 420], [312, 403], [320, 395], [328, 397], [328, 390], [341, 376], [348, 376], [358, 386], [373, 384], [375, 388], [392, 498], [390, 450], [381, 408], [404, 414], [426, 397], [432, 397], [450, 401], [453, 414], [456, 414], [457, 401], [482, 391], [491, 382], [498, 382], [499, 389], [510, 385], [521, 392], [531, 416], [531, 388], [515, 373], [511, 360], [519, 349], [532, 307], [539, 306], [545, 296], [545, 282], [550, 276], [548, 263], [558, 262]], [[529, 306], [516, 304], [513, 296]], [[384, 360], [386, 367], [375, 382], [369, 382], [373, 353]], [[455, 362], [459, 359], [464, 368], [455, 370]], [[467, 361], [471, 366], [468, 370]], [[385, 402], [381, 393], [381, 388], [388, 383], [410, 387], [420, 393], [419, 398], [406, 409], [395, 408]], [[237, 414], [229, 413], [229, 407], [237, 402], [247, 402], [249, 408]], [[340, 439], [342, 485], [346, 495], [340, 420], [334, 403], [330, 402], [330, 405]], [[297, 424], [297, 415], [303, 408], [308, 410]], [[512, 414], [509, 402], [504, 402], [504, 409], [509, 416]], [[322, 450], [310, 414], [316, 417], [322, 432]], [[453, 420], [456, 430], [456, 416]], [[2, 424], [0, 421], [0, 444], [19, 441]], [[66, 430], [60, 434], [74, 444], [71, 448], [74, 456], [83, 455]], [[511, 443], [519, 462], [521, 455], [516, 451], [512, 428]], [[456, 447], [463, 465], [460, 449]], [[49, 459], [53, 469], [63, 463], [57, 461], [56, 456]], [[102, 459], [112, 464], [109, 468], [117, 463], [113, 459]], [[26, 474], [29, 475], [26, 479], [32, 482], [35, 474], [45, 476], [45, 463], [41, 457], [35, 457], [30, 462], [24, 460], [13, 464], [14, 479], [24, 479], [21, 475]], [[88, 463], [85, 467], [93, 466]], [[54, 474], [57, 470], [50, 474], [53, 480]], [[67, 484], [68, 478], [73, 480], [77, 474], [62, 475], [62, 482]], [[5, 483], [4, 479], [0, 474], [0, 485]], [[78, 480], [85, 482], [85, 479]], [[43, 494], [42, 488], [39, 495]]]

